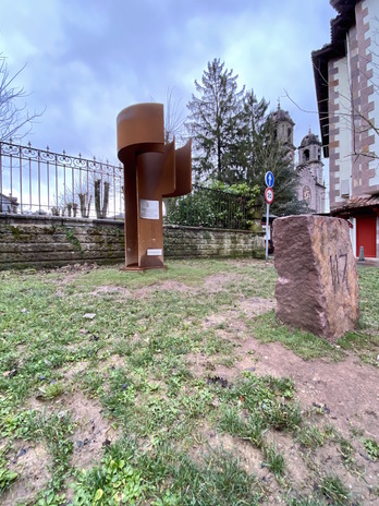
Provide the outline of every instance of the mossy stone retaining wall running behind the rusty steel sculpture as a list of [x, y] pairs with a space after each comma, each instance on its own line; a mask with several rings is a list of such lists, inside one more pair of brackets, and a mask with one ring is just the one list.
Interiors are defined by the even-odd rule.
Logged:
[[[164, 227], [164, 256], [265, 256], [264, 232]], [[0, 269], [124, 262], [124, 224], [0, 214]]]

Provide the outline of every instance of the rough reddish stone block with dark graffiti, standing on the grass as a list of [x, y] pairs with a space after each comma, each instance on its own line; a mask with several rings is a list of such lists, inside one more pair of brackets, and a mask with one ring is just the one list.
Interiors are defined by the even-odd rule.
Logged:
[[347, 222], [314, 215], [277, 218], [273, 243], [277, 318], [330, 341], [353, 329], [358, 280]]

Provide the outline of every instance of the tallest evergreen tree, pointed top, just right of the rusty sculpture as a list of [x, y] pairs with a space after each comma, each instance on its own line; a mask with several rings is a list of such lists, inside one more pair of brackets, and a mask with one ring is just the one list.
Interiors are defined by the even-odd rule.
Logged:
[[228, 184], [239, 178], [239, 141], [244, 88], [237, 91], [237, 75], [224, 69], [220, 59], [208, 62], [201, 84], [195, 81], [187, 131], [193, 138], [194, 170], [197, 180], [211, 178]]

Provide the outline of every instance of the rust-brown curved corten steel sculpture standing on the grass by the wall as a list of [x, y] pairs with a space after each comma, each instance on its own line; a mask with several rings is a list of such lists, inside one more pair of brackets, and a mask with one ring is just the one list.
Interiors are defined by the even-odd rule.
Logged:
[[191, 141], [164, 144], [163, 106], [137, 104], [118, 116], [118, 157], [124, 166], [126, 270], [162, 268], [162, 197], [192, 191]]

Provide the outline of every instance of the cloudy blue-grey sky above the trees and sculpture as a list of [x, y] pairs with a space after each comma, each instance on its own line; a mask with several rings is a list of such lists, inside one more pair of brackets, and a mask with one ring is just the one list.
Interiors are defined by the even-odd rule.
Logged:
[[[310, 52], [330, 41], [329, 0], [1, 0], [0, 50], [45, 110], [35, 147], [117, 160], [115, 118], [168, 89], [186, 115], [208, 61], [220, 58], [294, 119], [295, 144], [319, 134]], [[294, 105], [286, 96], [291, 96]], [[21, 104], [22, 105], [22, 104]]]

